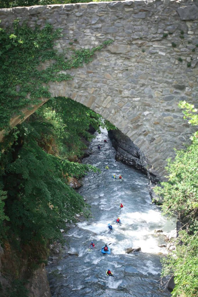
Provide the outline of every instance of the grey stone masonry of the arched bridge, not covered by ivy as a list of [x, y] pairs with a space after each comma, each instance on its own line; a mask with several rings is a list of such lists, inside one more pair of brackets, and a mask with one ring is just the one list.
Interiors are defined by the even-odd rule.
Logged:
[[50, 83], [49, 89], [54, 97], [71, 97], [115, 124], [164, 174], [166, 159], [174, 156], [173, 148], [183, 148], [192, 133], [178, 102], [198, 106], [198, 1], [119, 1], [0, 10], [2, 27], [8, 28], [16, 18], [29, 26], [49, 22], [62, 28], [56, 44], [60, 51], [114, 40], [91, 63], [68, 71], [73, 80]]

